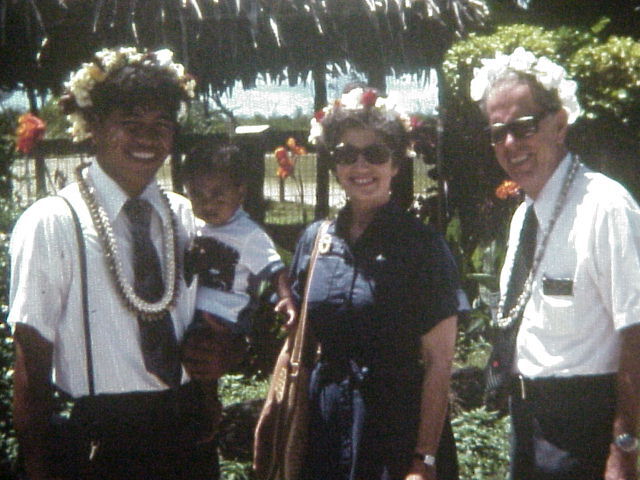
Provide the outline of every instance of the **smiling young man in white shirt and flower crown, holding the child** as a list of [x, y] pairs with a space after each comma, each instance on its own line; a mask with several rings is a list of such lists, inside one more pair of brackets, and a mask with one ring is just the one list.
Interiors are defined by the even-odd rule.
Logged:
[[[217, 378], [220, 349], [202, 332], [184, 344], [196, 289], [181, 257], [194, 218], [155, 180], [192, 95], [168, 50], [103, 50], [67, 84], [63, 109], [95, 161], [60, 192], [69, 204], [27, 209], [10, 247], [14, 422], [31, 480], [218, 477], [210, 412], [189, 379]], [[54, 435], [54, 391], [73, 404], [79, 449]]]

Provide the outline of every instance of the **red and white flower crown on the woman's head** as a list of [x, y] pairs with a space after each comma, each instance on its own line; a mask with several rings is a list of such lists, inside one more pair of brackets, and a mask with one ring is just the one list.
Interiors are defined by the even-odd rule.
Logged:
[[[365, 108], [375, 108], [382, 113], [388, 115], [391, 119], [399, 119], [404, 125], [405, 130], [411, 130], [411, 118], [404, 112], [399, 111], [399, 98], [397, 95], [390, 93], [386, 97], [376, 94], [375, 104], [372, 106], [366, 106], [367, 102], [363, 101], [363, 96], [369, 94], [371, 90], [364, 88], [354, 88], [349, 92], [342, 95], [339, 100], [336, 100], [333, 105], [327, 105], [322, 109], [322, 118], [329, 115], [336, 108], [343, 108], [345, 110], [364, 110]], [[315, 116], [311, 119], [311, 128], [309, 130], [309, 143], [316, 145], [318, 139], [323, 134], [322, 119], [318, 120]], [[414, 155], [413, 151], [407, 152], [409, 155]]]

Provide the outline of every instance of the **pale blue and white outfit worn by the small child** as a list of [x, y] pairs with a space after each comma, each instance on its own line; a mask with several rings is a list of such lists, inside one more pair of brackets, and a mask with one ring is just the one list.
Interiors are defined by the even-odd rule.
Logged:
[[224, 320], [237, 333], [249, 333], [252, 303], [262, 280], [284, 268], [267, 233], [239, 208], [224, 225], [196, 219], [197, 235], [219, 242], [216, 265], [198, 279], [197, 308]]

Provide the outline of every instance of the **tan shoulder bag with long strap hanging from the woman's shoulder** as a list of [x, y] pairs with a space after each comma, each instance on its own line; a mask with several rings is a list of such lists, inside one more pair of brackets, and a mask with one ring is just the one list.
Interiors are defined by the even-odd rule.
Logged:
[[296, 480], [305, 458], [311, 374], [304, 361], [310, 352], [307, 303], [319, 245], [329, 223], [329, 220], [322, 222], [316, 234], [298, 323], [278, 355], [267, 398], [256, 424], [253, 468], [260, 480]]

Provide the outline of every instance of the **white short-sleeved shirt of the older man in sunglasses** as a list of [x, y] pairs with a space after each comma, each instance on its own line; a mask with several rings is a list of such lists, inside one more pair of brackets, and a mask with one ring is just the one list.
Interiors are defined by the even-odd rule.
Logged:
[[[535, 202], [527, 197], [515, 212], [503, 292], [527, 206], [534, 203], [540, 248], [570, 162], [568, 155]], [[620, 330], [639, 322], [640, 209], [619, 183], [581, 165], [534, 278], [515, 369], [526, 377], [616, 372]]]

